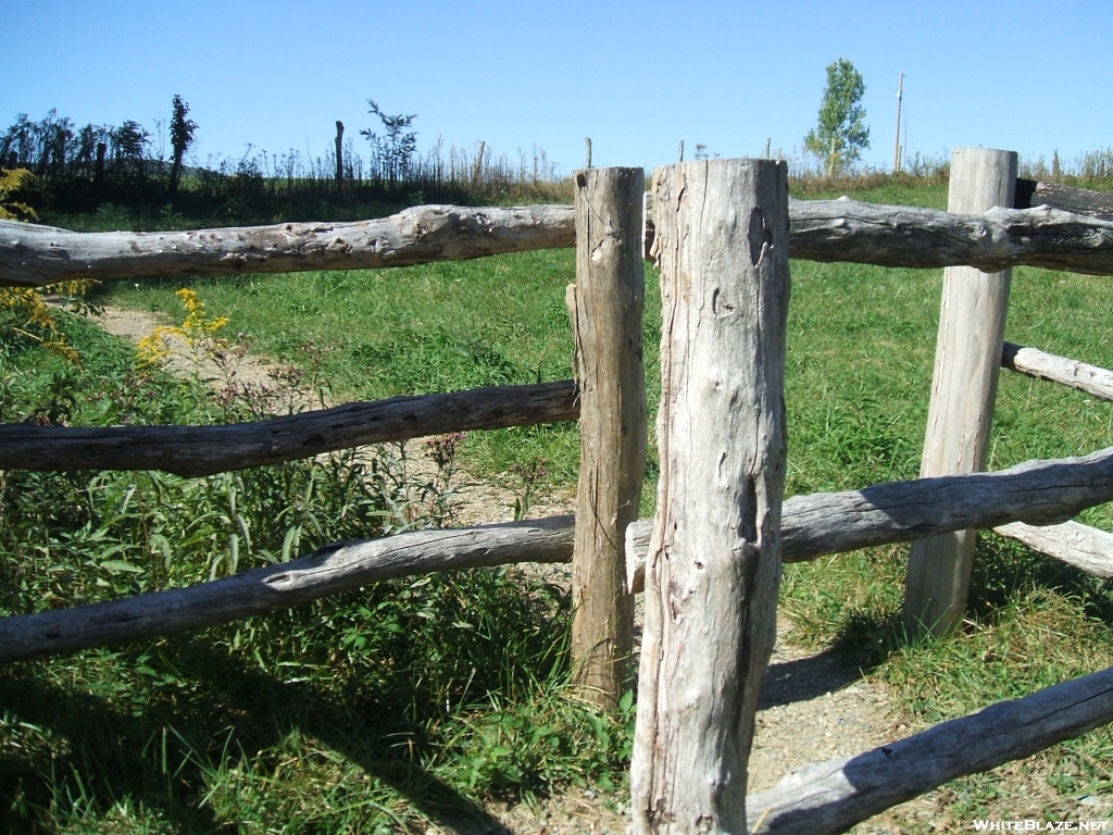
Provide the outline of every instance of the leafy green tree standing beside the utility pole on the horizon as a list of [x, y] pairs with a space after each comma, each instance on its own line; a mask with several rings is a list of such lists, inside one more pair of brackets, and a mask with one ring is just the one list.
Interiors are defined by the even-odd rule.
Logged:
[[861, 124], [866, 111], [861, 97], [866, 84], [861, 73], [845, 58], [827, 67], [827, 88], [819, 106], [819, 125], [804, 137], [804, 147], [823, 157], [827, 176], [834, 176], [856, 161], [869, 147], [869, 128]]

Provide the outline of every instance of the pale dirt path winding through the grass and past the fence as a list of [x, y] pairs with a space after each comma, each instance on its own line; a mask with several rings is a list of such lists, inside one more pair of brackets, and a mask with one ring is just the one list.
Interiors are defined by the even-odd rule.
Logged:
[[[105, 308], [97, 320], [106, 331], [138, 342], [159, 324], [166, 324], [156, 314], [142, 311]], [[195, 361], [184, 343], [174, 346], [177, 356], [171, 367], [191, 370]], [[265, 385], [272, 382], [274, 364], [258, 356], [237, 360], [235, 373], [242, 383]], [[204, 370], [203, 370], [204, 373]], [[209, 374], [214, 375], [215, 374]], [[425, 439], [407, 444], [407, 454], [417, 465], [432, 464], [424, 456]], [[465, 478], [452, 499], [453, 521], [456, 524], [483, 524], [508, 521], [513, 518], [515, 494], [499, 484]], [[573, 512], [575, 498], [569, 491], [542, 493], [530, 510], [530, 517]], [[555, 581], [569, 582], [569, 569], [554, 566]], [[640, 612], [640, 606], [639, 612]], [[639, 632], [640, 632], [639, 617]], [[777, 647], [761, 691], [754, 752], [750, 757], [750, 788], [760, 792], [775, 785], [788, 773], [818, 760], [831, 759], [868, 750], [893, 741], [909, 731], [893, 718], [885, 689], [875, 681], [864, 679], [856, 669], [829, 652], [814, 652], [794, 646], [788, 640], [791, 630], [784, 617], [778, 625]], [[916, 817], [929, 817], [934, 804], [914, 802]], [[914, 804], [908, 804], [913, 806]], [[579, 790], [550, 798], [538, 806], [518, 805], [512, 808], [494, 804], [489, 809], [505, 835], [593, 835], [626, 833], [630, 823], [629, 808], [613, 800], [604, 804], [590, 790]], [[912, 812], [912, 809], [909, 809]], [[885, 818], [863, 824], [858, 833], [903, 832]], [[925, 822], [926, 823], [926, 822]], [[434, 832], [434, 831], [431, 831]], [[479, 835], [492, 829], [474, 831], [467, 827], [461, 835]]]

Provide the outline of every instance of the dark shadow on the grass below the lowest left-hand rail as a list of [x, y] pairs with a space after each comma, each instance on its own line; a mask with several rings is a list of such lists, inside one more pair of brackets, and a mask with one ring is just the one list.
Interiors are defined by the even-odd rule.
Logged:
[[[58, 802], [76, 817], [125, 802], [160, 813], [181, 832], [238, 831], [234, 821], [218, 819], [207, 777], [221, 765], [242, 767], [228, 763], [226, 753], [240, 762], [256, 752], [283, 759], [279, 749], [290, 735], [312, 738], [314, 750], [338, 755], [441, 826], [469, 822], [502, 831], [482, 806], [422, 767], [427, 740], [400, 705], [361, 699], [354, 686], [326, 691], [307, 681], [284, 682], [201, 639], [185, 642], [173, 662], [148, 658], [138, 668], [177, 685], [137, 698], [130, 713], [110, 706], [109, 694], [50, 682], [36, 665], [13, 667], [14, 675], [0, 681], [0, 710], [42, 743], [38, 750], [0, 752], [0, 808], [12, 815], [0, 832], [49, 829], [45, 818]], [[114, 689], [117, 704], [120, 687], [126, 689], [101, 686]], [[273, 762], [267, 767], [277, 768]], [[311, 829], [325, 824], [305, 823]]]

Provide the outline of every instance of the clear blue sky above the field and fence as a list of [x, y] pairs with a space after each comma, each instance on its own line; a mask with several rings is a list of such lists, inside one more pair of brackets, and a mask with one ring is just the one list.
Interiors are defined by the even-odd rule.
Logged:
[[[1113, 0], [914, 2], [124, 2], [2, 0], [0, 119], [50, 108], [152, 128], [180, 94], [196, 158], [323, 154], [366, 99], [416, 114], [418, 147], [544, 148], [563, 173], [799, 154], [825, 67], [866, 81], [873, 147], [893, 160], [905, 73], [909, 151], [985, 145], [1064, 161], [1113, 146]], [[363, 140], [356, 136], [359, 144]]]

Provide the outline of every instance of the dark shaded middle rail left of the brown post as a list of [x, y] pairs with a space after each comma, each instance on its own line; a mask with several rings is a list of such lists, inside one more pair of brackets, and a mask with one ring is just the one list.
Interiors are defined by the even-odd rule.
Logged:
[[574, 421], [575, 383], [393, 397], [218, 426], [0, 425], [0, 470], [165, 470], [178, 475], [262, 466], [371, 443]]

